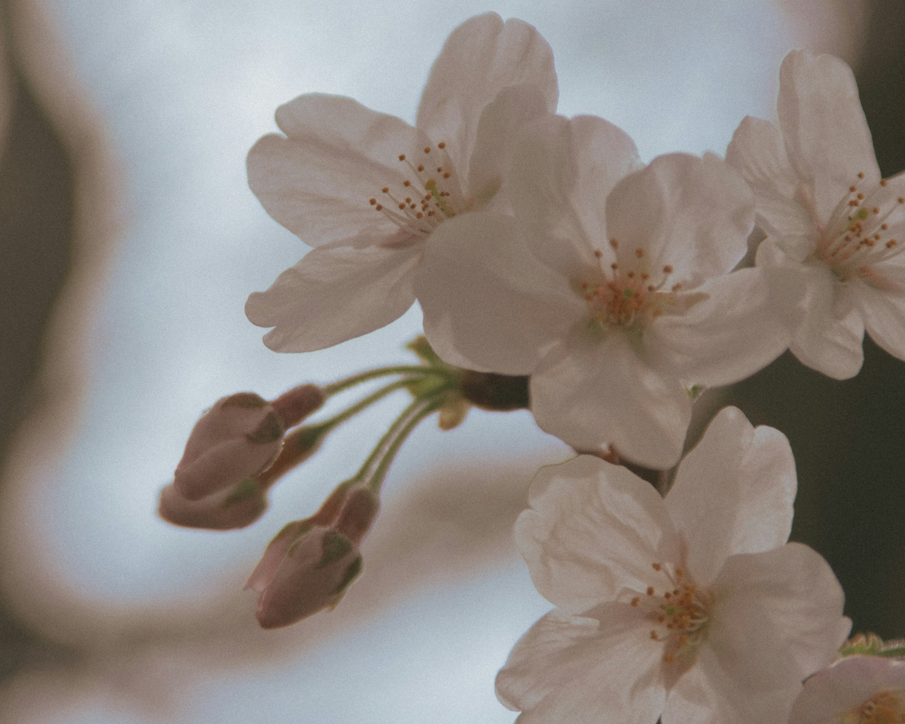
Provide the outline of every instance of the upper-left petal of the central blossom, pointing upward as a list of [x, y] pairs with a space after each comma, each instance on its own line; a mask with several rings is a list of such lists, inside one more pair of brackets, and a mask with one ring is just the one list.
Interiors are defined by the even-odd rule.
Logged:
[[[608, 266], [615, 257], [606, 237], [606, 197], [642, 167], [632, 139], [604, 119], [550, 116], [531, 123], [513, 153], [509, 182], [515, 214], [535, 230], [531, 252], [574, 280], [588, 267]], [[603, 252], [601, 260], [595, 250]]]

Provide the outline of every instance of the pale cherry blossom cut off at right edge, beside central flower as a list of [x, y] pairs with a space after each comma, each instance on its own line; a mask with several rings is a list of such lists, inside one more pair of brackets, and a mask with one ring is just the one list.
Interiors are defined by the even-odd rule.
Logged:
[[758, 266], [776, 276], [808, 367], [858, 374], [864, 329], [905, 359], [905, 176], [881, 179], [849, 67], [830, 55], [786, 55], [779, 128], [744, 119], [727, 150], [757, 199], [767, 239]]

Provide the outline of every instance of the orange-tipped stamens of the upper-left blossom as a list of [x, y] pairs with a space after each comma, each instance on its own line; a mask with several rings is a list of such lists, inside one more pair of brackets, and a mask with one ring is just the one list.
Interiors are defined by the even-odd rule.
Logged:
[[445, 148], [445, 143], [437, 144], [433, 158], [439, 164], [430, 168], [427, 167], [431, 163], [430, 146], [424, 147], [424, 163], [417, 165], [404, 153], [399, 154], [399, 160], [411, 169], [414, 181], [406, 178], [401, 193], [384, 186], [383, 203], [371, 198], [369, 204], [399, 228], [414, 234], [431, 233], [443, 219], [467, 211], [469, 204], [455, 179], [452, 160]]

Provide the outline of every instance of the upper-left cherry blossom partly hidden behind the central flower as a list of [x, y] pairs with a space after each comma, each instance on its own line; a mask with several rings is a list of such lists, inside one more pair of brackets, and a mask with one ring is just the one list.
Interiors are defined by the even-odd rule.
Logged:
[[446, 41], [414, 127], [338, 96], [281, 106], [285, 136], [255, 144], [249, 184], [274, 219], [317, 248], [249, 297], [248, 318], [274, 328], [264, 343], [321, 349], [400, 317], [433, 230], [505, 205], [498, 192], [514, 132], [555, 111], [557, 95], [547, 42], [529, 24], [488, 13]]

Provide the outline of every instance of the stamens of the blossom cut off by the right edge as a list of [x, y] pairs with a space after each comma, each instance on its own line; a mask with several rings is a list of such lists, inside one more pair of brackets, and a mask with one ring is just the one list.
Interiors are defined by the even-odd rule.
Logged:
[[886, 196], [883, 192], [887, 185], [885, 178], [880, 186], [865, 195], [858, 186], [863, 177], [863, 173], [858, 174], [829, 222], [820, 229], [821, 238], [814, 252], [843, 281], [871, 264], [889, 259], [901, 249], [900, 242], [887, 233], [887, 221], [901, 205], [905, 205], [905, 197], [878, 201], [878, 196]]

